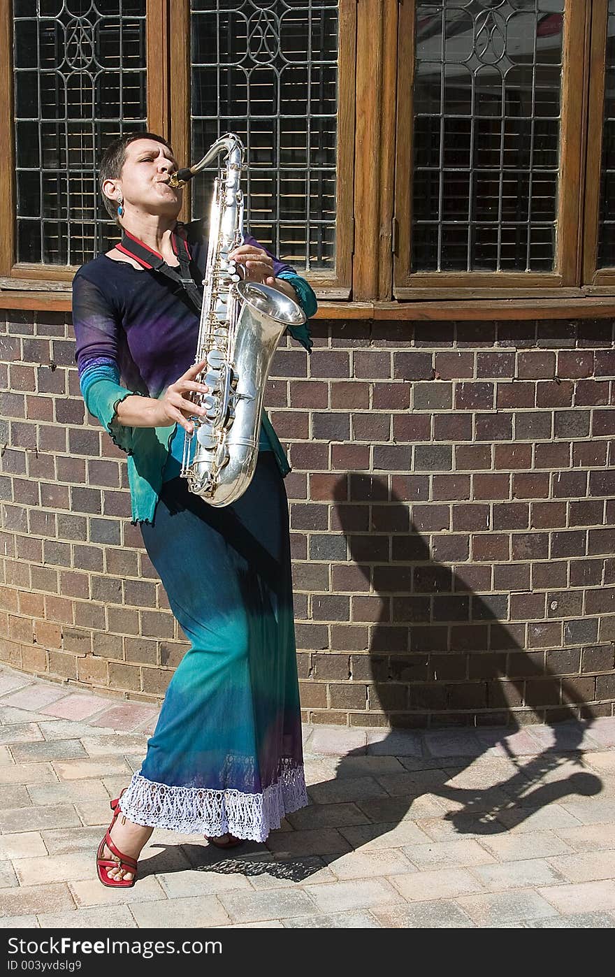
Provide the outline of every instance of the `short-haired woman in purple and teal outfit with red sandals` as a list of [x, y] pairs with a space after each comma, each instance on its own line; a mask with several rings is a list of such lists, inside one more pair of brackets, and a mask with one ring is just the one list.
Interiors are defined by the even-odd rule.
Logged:
[[[156, 826], [230, 847], [264, 841], [286, 813], [308, 803], [286, 455], [263, 412], [254, 478], [235, 503], [215, 508], [179, 477], [189, 418], [204, 413], [189, 397], [207, 389], [197, 380], [203, 363], [193, 365], [206, 244], [198, 225], [177, 222], [182, 192], [168, 185], [176, 169], [168, 143], [151, 133], [107, 150], [101, 188], [122, 244], [84, 265], [73, 282], [81, 391], [127, 451], [132, 522], [191, 641], [141, 771], [111, 801], [97, 854], [99, 878], [110, 886], [134, 884]], [[153, 269], [149, 256], [165, 265]], [[245, 277], [286, 292], [308, 318], [316, 311], [308, 283], [253, 237], [230, 257]], [[175, 280], [180, 265], [184, 285]], [[309, 351], [306, 327], [290, 331]]]

